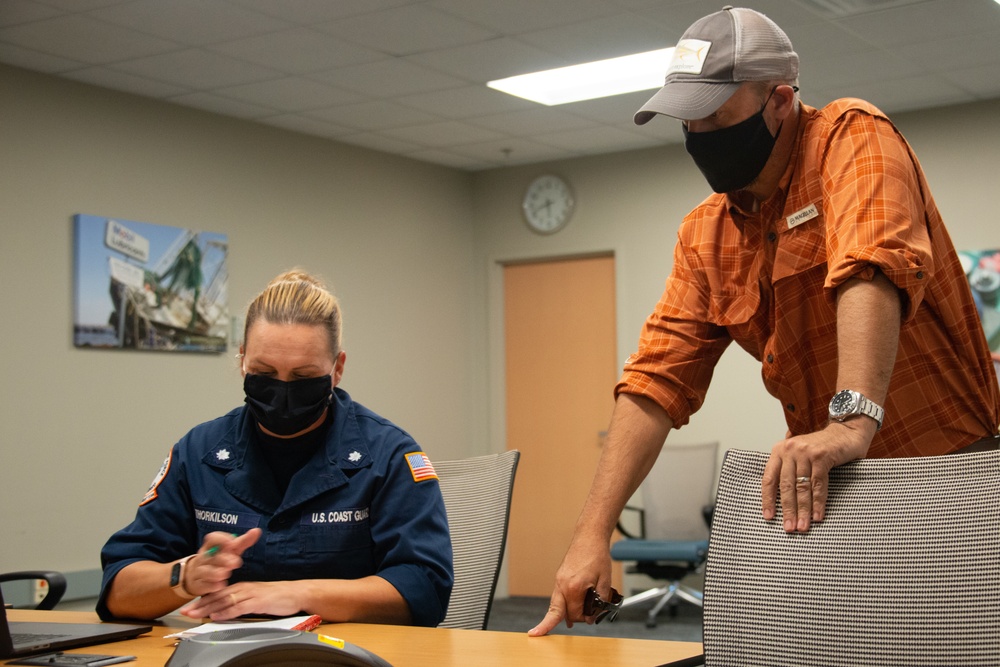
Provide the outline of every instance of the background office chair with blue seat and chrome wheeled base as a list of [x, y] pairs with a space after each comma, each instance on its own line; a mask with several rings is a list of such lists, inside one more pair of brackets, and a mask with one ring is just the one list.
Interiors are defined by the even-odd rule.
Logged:
[[[625, 539], [611, 545], [611, 558], [634, 564], [626, 572], [645, 574], [666, 584], [625, 598], [623, 607], [655, 600], [646, 616], [646, 626], [655, 627], [656, 617], [670, 605], [676, 613], [678, 600], [701, 606], [702, 592], [683, 579], [697, 572], [708, 553], [708, 518], [715, 485], [719, 443], [695, 445], [667, 443], [640, 487], [642, 508], [626, 506], [618, 521]], [[629, 529], [626, 515], [637, 512], [639, 530]]]

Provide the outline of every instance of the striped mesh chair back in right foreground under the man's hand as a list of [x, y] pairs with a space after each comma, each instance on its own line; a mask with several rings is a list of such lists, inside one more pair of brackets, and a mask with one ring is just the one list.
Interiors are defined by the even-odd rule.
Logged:
[[1000, 452], [835, 468], [826, 518], [793, 535], [761, 516], [767, 459], [722, 466], [706, 665], [1000, 664]]

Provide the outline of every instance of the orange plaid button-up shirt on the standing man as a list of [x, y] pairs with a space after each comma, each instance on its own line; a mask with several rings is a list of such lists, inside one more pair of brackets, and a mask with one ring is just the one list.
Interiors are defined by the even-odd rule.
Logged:
[[[619, 393], [686, 424], [735, 340], [763, 364], [792, 434], [822, 429], [837, 390], [837, 288], [881, 271], [903, 323], [868, 456], [945, 454], [997, 432], [989, 348], [920, 164], [889, 119], [860, 100], [801, 105], [778, 190], [748, 214], [712, 195], [685, 218], [666, 290]], [[848, 387], [849, 388], [849, 387]]]

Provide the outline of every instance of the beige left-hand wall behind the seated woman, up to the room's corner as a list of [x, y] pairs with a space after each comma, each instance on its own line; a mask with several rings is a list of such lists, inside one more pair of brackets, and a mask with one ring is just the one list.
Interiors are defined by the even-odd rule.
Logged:
[[228, 234], [237, 314], [288, 267], [322, 275], [344, 308], [342, 386], [443, 459], [476, 447], [470, 183], [0, 67], [0, 570], [97, 567], [169, 447], [243, 398], [235, 349], [73, 347], [73, 214]]

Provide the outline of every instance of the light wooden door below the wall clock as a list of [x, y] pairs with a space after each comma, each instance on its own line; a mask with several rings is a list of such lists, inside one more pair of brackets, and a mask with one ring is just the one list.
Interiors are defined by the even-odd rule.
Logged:
[[[504, 267], [510, 595], [552, 592], [614, 407], [614, 257]], [[620, 583], [620, 582], [619, 582]]]

